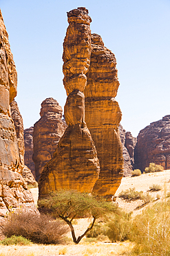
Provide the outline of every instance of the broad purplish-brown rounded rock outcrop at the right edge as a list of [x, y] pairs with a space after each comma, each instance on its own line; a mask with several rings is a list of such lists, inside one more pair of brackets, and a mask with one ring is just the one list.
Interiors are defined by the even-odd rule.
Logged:
[[142, 172], [149, 163], [170, 169], [170, 115], [140, 131], [135, 147], [135, 167]]

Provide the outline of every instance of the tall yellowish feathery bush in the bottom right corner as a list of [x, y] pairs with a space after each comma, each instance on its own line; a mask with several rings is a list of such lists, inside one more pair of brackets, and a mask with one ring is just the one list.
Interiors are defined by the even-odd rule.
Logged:
[[137, 215], [129, 234], [135, 255], [170, 255], [170, 201], [165, 199]]

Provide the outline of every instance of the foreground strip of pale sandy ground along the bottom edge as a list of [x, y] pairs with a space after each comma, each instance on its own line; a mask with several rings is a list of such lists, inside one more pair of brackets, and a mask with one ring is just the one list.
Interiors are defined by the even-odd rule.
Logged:
[[0, 246], [0, 256], [121, 256], [125, 255], [126, 252], [131, 252], [134, 245], [129, 242], [123, 243], [81, 243], [78, 245], [70, 244], [65, 246], [43, 246], [43, 245], [32, 245], [32, 246]]

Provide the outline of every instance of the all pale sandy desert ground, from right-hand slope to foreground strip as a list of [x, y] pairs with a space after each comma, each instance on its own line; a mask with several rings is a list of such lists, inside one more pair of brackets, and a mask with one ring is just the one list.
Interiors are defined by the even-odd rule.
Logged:
[[[126, 202], [123, 199], [118, 198], [118, 194], [122, 190], [127, 190], [129, 188], [136, 188], [137, 191], [143, 191], [147, 193], [149, 187], [153, 184], [159, 184], [162, 190], [159, 192], [149, 192], [153, 198], [159, 197], [162, 200], [164, 192], [170, 192], [170, 170], [165, 170], [163, 172], [154, 172], [149, 174], [142, 174], [136, 177], [123, 177], [120, 187], [116, 192], [116, 202], [120, 208], [127, 212], [133, 212], [133, 215], [139, 214], [145, 207], [142, 207], [143, 202], [141, 200]], [[35, 204], [38, 199], [38, 188], [30, 189], [33, 196]], [[158, 196], [159, 194], [159, 196]], [[139, 207], [141, 206], [141, 208]], [[140, 209], [139, 209], [140, 208]], [[76, 235], [81, 235], [83, 230], [89, 226], [89, 219], [78, 219], [74, 225], [76, 230]], [[0, 246], [0, 256], [109, 256], [109, 255], [125, 255], [124, 253], [131, 251], [133, 244], [129, 241], [120, 243], [110, 243], [110, 242], [98, 242], [89, 243], [85, 239], [79, 244], [74, 244], [71, 241], [71, 234], [67, 235], [69, 244], [61, 244], [55, 246], [45, 246], [45, 245], [32, 245], [32, 246]]]

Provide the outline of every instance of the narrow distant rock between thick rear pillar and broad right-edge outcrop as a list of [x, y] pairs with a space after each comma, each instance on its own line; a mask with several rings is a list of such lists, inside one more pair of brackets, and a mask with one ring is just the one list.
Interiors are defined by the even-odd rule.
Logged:
[[134, 149], [137, 138], [134, 138], [130, 131], [126, 132], [122, 125], [119, 125], [118, 129], [120, 140], [123, 145], [123, 176], [131, 176], [131, 171], [134, 169]]

